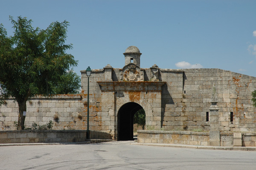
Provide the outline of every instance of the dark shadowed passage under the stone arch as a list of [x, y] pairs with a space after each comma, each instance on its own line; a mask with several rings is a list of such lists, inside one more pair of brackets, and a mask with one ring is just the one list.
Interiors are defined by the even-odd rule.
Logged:
[[117, 140], [134, 140], [133, 136], [133, 118], [134, 114], [143, 107], [140, 104], [129, 102], [124, 104], [117, 114]]

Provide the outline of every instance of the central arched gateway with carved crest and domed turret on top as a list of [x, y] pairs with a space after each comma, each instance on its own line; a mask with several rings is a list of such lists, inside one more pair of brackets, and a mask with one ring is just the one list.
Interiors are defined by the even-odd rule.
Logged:
[[[141, 108], [145, 110], [146, 127], [161, 128], [161, 91], [165, 84], [158, 79], [156, 65], [150, 72], [140, 68], [141, 53], [136, 46], [128, 47], [124, 55], [122, 69], [114, 71], [108, 64], [102, 70], [94, 70], [90, 85], [94, 88], [96, 107], [97, 101], [99, 105], [95, 110], [101, 111], [100, 130], [111, 133], [117, 140], [133, 139], [132, 118]], [[148, 78], [150, 81], [145, 81]]]

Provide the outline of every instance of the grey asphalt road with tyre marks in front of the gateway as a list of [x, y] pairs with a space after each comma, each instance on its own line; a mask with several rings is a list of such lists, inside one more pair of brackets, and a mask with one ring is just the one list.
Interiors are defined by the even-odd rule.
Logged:
[[256, 170], [255, 151], [130, 143], [4, 146], [0, 170]]

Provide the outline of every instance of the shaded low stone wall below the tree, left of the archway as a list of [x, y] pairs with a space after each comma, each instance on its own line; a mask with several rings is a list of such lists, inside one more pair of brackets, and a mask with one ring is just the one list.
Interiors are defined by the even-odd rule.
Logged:
[[[109, 133], [90, 131], [90, 139], [111, 139]], [[55, 143], [86, 141], [86, 130], [6, 130], [0, 131], [0, 144]]]

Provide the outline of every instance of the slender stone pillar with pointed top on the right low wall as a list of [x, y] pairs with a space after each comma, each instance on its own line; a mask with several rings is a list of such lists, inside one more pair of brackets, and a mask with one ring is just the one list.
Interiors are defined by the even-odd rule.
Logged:
[[218, 115], [218, 98], [215, 85], [212, 86], [212, 105], [210, 106], [210, 133], [209, 133], [209, 145], [220, 146], [220, 131], [218, 130], [219, 115]]

